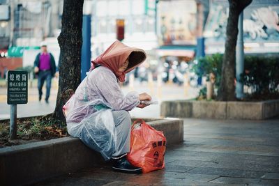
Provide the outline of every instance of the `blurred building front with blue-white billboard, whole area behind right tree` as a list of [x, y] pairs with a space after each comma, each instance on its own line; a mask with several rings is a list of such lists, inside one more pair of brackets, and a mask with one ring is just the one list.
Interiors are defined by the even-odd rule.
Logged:
[[[209, 17], [204, 28], [206, 54], [225, 51], [225, 32], [229, 15], [228, 2], [210, 1]], [[246, 54], [279, 53], [279, 1], [253, 0], [243, 10], [243, 42]]]

